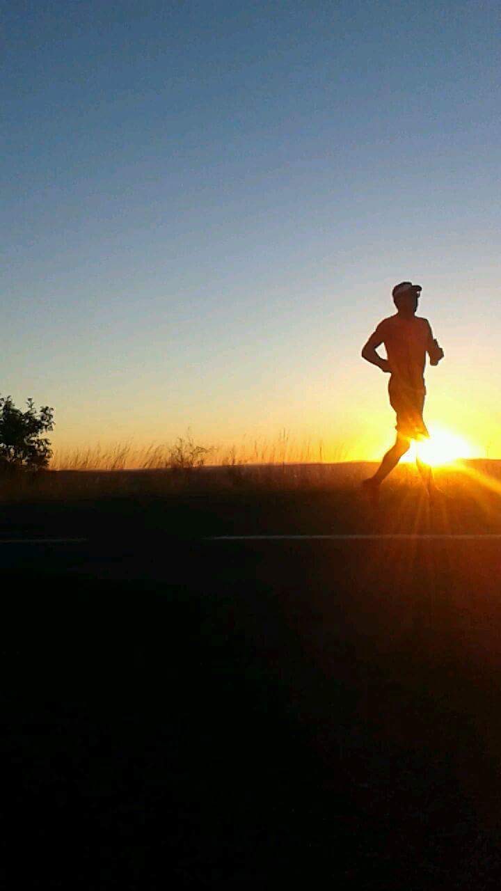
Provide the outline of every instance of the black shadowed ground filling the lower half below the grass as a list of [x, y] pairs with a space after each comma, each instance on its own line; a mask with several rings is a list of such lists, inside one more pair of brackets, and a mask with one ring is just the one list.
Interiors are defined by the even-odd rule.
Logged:
[[5, 507], [89, 538], [0, 548], [10, 887], [499, 887], [499, 543], [201, 541], [341, 530], [301, 497]]

